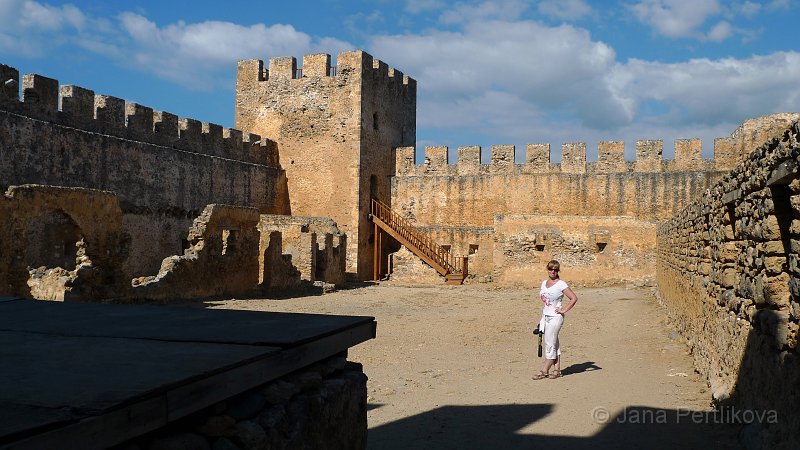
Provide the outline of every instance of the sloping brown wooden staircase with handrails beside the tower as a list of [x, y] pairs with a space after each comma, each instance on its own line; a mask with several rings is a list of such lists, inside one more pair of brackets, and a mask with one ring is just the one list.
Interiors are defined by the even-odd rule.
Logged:
[[452, 255], [380, 200], [372, 199], [370, 211], [373, 217], [385, 223], [395, 233], [416, 247], [417, 251], [441, 266], [444, 270], [443, 275], [461, 274], [466, 277], [464, 257]]

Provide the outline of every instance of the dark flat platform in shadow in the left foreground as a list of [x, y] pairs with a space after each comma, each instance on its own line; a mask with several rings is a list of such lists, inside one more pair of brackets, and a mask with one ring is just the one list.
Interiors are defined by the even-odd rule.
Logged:
[[0, 299], [0, 448], [105, 448], [375, 337], [358, 316]]

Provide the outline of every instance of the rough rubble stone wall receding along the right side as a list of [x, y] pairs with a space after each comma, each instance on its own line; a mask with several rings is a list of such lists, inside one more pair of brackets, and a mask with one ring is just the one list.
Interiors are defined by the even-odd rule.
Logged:
[[775, 410], [765, 448], [800, 447], [800, 122], [658, 229], [661, 301], [713, 396]]

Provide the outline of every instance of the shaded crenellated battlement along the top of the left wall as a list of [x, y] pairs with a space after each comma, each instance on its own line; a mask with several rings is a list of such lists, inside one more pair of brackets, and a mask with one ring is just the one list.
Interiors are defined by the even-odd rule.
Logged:
[[[154, 111], [0, 64], [0, 110], [121, 139], [266, 166], [278, 166], [275, 142], [256, 134]], [[20, 87], [22, 96], [20, 98]]]

